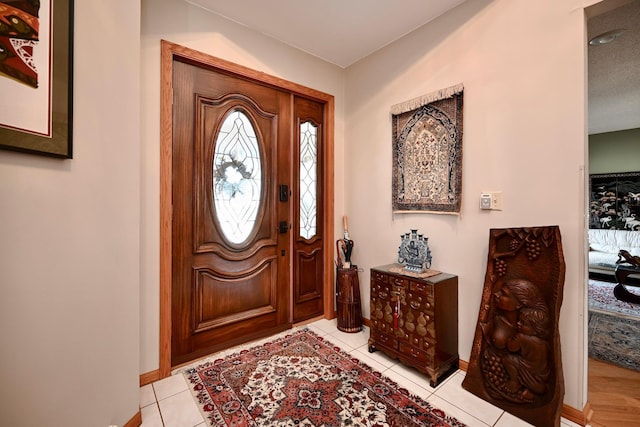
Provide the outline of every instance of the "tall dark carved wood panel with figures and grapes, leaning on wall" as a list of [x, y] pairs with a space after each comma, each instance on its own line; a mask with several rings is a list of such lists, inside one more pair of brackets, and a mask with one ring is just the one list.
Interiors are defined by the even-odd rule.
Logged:
[[492, 229], [462, 386], [536, 426], [559, 426], [564, 397], [558, 318], [565, 264], [557, 226]]

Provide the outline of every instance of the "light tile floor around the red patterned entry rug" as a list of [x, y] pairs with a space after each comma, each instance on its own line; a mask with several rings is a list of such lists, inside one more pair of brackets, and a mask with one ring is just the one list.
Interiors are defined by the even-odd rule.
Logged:
[[[454, 373], [438, 387], [432, 388], [429, 386], [428, 379], [418, 371], [407, 368], [382, 352], [369, 353], [367, 349], [369, 330], [366, 327], [360, 333], [347, 334], [337, 329], [335, 319], [318, 320], [305, 327], [470, 427], [530, 426], [463, 389], [462, 380], [465, 375], [463, 371]], [[233, 349], [225, 353], [232, 351]], [[141, 387], [140, 408], [143, 427], [206, 426], [187, 382], [180, 374]], [[564, 418], [561, 425], [578, 427], [578, 424]]]

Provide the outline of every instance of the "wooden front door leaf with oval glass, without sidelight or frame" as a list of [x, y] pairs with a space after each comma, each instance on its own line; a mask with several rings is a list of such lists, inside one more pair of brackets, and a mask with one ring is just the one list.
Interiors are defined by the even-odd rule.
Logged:
[[172, 364], [289, 328], [291, 95], [173, 63]]

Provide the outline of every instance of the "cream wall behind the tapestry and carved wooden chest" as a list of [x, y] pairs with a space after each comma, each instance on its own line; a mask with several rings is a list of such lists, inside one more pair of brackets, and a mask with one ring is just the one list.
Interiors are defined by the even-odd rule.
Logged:
[[[433, 268], [459, 276], [459, 350], [469, 360], [490, 228], [559, 225], [565, 403], [584, 405], [585, 23], [581, 1], [469, 0], [347, 70], [345, 203], [364, 268], [394, 262], [400, 235], [429, 237]], [[464, 84], [459, 216], [391, 211], [390, 106]], [[481, 211], [483, 191], [504, 210]], [[375, 214], [374, 214], [375, 213]], [[369, 307], [363, 306], [369, 317]]]

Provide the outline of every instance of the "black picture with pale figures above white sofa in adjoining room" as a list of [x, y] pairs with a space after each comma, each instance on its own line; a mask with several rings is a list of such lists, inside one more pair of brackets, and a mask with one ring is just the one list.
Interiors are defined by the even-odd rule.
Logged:
[[589, 228], [640, 230], [640, 172], [589, 175]]

